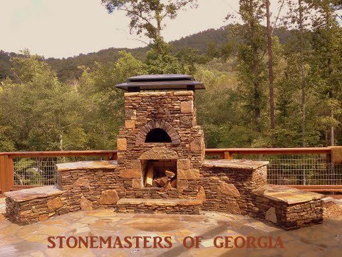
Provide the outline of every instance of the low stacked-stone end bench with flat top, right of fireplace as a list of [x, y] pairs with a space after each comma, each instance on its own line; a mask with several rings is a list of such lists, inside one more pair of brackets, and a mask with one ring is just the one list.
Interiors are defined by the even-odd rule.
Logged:
[[296, 188], [266, 185], [252, 192], [251, 212], [286, 230], [301, 228], [323, 221], [323, 197]]

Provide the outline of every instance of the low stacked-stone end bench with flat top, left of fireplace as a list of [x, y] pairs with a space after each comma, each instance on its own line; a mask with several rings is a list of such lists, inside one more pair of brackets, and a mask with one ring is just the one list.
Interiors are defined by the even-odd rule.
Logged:
[[56, 186], [6, 192], [6, 217], [14, 223], [26, 225], [68, 213], [66, 201], [61, 197], [63, 193]]

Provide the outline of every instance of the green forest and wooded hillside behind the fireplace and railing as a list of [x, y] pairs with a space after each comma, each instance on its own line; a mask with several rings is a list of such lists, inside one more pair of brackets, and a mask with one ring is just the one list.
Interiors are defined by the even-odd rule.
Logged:
[[[196, 0], [102, 0], [130, 17], [138, 49], [67, 59], [0, 51], [0, 151], [116, 148], [123, 91], [140, 74], [190, 74], [207, 148], [342, 145], [341, 0], [240, 0], [221, 29], [165, 42]], [[279, 15], [281, 9], [286, 14]]]

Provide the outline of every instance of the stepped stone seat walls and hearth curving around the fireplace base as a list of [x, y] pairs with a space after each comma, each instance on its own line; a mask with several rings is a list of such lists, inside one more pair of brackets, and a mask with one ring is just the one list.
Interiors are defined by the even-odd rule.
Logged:
[[56, 186], [6, 193], [6, 215], [24, 225], [96, 208], [122, 213], [199, 214], [202, 210], [266, 219], [285, 229], [321, 223], [323, 196], [266, 185], [266, 164], [205, 160], [196, 180], [199, 189], [195, 196], [182, 188], [181, 198], [163, 198], [160, 194], [164, 192], [156, 192], [154, 198], [150, 193], [136, 193], [132, 179], [120, 175], [116, 161], [63, 163], [58, 164]]

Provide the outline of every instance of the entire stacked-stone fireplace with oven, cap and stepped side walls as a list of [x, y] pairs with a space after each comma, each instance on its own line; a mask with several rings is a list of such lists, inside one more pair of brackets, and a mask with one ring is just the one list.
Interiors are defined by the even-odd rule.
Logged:
[[[57, 165], [57, 184], [6, 193], [19, 224], [72, 211], [199, 214], [221, 211], [262, 218], [285, 229], [323, 219], [320, 194], [266, 184], [266, 161], [204, 160], [195, 91], [187, 75], [136, 76], [125, 90], [117, 161]], [[214, 114], [213, 114], [214, 115]]]

